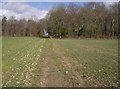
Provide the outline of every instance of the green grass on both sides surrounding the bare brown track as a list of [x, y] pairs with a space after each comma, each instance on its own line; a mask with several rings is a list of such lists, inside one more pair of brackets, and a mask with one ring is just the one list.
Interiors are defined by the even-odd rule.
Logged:
[[[52, 50], [55, 45], [59, 47], [61, 54]], [[62, 70], [64, 66], [61, 62], [62, 56], [68, 57], [69, 62], [73, 64], [74, 71], [81, 73], [89, 84], [117, 86], [117, 40], [40, 39], [33, 37], [3, 37], [2, 86], [26, 86], [28, 73], [31, 75], [29, 78], [31, 83], [28, 85], [38, 86], [41, 78], [42, 59], [46, 55], [52, 58], [59, 70]], [[74, 64], [74, 61], [77, 61], [79, 65]], [[35, 68], [34, 71], [32, 68]], [[73, 71], [69, 67], [66, 69]], [[62, 70], [63, 75], [66, 69]], [[66, 79], [71, 75], [72, 72], [67, 77], [65, 76]]]

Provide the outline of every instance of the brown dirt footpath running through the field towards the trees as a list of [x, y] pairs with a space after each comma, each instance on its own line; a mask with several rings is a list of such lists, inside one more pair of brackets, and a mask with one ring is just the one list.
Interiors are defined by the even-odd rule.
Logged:
[[[40, 87], [88, 87], [79, 71], [77, 61], [65, 53], [59, 45], [48, 41], [44, 45]], [[54, 47], [53, 47], [54, 46]]]

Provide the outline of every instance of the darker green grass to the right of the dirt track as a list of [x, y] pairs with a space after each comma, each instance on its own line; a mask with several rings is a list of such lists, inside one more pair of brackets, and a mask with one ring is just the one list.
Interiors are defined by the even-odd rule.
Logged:
[[56, 40], [66, 52], [85, 68], [80, 70], [103, 86], [117, 86], [117, 40]]

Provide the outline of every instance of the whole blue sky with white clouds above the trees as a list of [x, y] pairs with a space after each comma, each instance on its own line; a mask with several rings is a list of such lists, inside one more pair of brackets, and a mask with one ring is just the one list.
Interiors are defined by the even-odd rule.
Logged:
[[[33, 2], [34, 1], [34, 2]], [[14, 16], [16, 19], [29, 19], [32, 16], [42, 19], [46, 16], [53, 6], [63, 2], [67, 5], [68, 2], [76, 2], [78, 5], [83, 5], [85, 0], [3, 0], [0, 2], [0, 16], [5, 15], [7, 18]], [[79, 1], [79, 3], [78, 3]], [[86, 2], [97, 1], [106, 2], [109, 5], [113, 2], [118, 2], [118, 0], [86, 0]]]

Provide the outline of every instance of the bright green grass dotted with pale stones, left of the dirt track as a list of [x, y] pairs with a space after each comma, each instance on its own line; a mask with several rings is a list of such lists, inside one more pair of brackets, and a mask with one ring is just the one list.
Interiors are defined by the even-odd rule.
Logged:
[[[25, 74], [32, 67], [33, 61], [36, 60], [41, 44], [42, 41], [39, 38], [3, 38], [4, 86], [23, 86]], [[17, 84], [17, 81], [21, 82]]]

